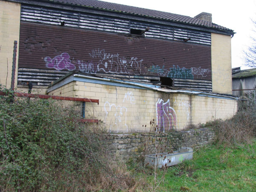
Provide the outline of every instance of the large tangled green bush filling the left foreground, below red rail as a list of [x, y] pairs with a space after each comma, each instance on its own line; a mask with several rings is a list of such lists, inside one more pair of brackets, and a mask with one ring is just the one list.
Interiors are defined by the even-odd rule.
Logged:
[[[3, 91], [3, 88], [0, 91]], [[105, 132], [63, 102], [0, 96], [0, 191], [129, 189], [105, 151]]]

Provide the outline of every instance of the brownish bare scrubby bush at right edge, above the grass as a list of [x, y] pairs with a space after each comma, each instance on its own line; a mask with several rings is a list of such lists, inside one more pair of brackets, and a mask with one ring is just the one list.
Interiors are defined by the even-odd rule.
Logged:
[[217, 119], [208, 122], [206, 126], [215, 129], [219, 144], [250, 144], [252, 138], [256, 137], [256, 106], [253, 105], [247, 110], [239, 111], [231, 119], [225, 121]]

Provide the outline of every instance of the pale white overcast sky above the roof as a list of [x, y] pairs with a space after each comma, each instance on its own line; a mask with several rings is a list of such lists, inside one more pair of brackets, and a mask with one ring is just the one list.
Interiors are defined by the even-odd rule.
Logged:
[[[232, 67], [244, 66], [243, 51], [256, 37], [252, 20], [256, 21], [256, 0], [104, 0], [129, 6], [154, 9], [179, 15], [195, 17], [201, 12], [212, 14], [212, 22], [229, 29], [236, 34], [231, 40]], [[254, 29], [256, 30], [256, 29]]]

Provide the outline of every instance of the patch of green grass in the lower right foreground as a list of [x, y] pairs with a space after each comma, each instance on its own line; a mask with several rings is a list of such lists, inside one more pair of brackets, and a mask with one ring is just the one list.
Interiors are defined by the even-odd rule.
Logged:
[[[160, 175], [163, 174], [160, 173]], [[153, 186], [153, 176], [148, 176]], [[209, 145], [166, 170], [157, 191], [256, 191], [256, 140], [249, 146]]]

